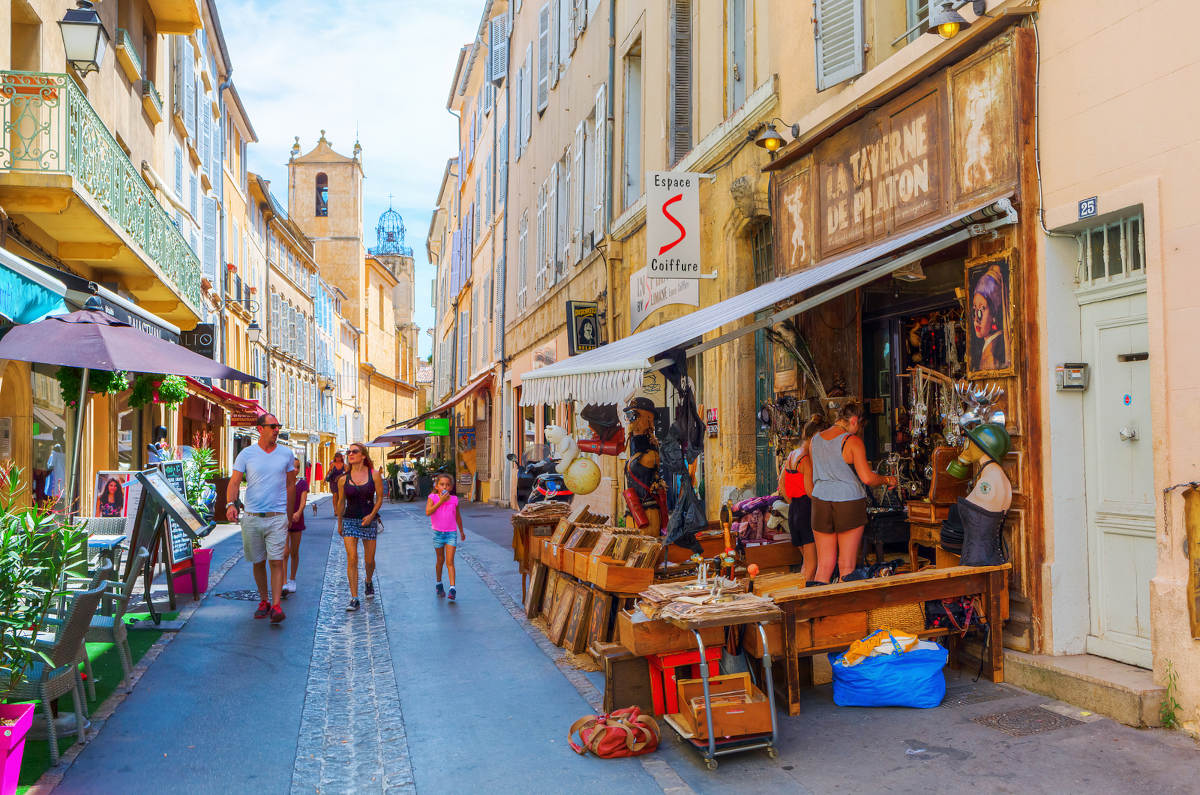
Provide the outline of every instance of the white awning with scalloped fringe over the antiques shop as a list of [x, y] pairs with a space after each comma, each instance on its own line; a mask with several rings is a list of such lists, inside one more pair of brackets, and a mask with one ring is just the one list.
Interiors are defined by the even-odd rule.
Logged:
[[[522, 373], [521, 405], [553, 405], [568, 400], [598, 405], [620, 404], [642, 385], [642, 377], [654, 366], [652, 360], [655, 357], [677, 348], [685, 348], [688, 355], [696, 355], [808, 311], [972, 235], [1015, 222], [1016, 211], [1012, 203], [1003, 198], [916, 228], [871, 247], [826, 259], [808, 270], [776, 279], [661, 325]], [[930, 240], [922, 243], [926, 238]], [[907, 250], [914, 244], [920, 245]], [[904, 253], [889, 256], [901, 250], [905, 250]], [[701, 341], [701, 337], [709, 331], [822, 286], [827, 288], [769, 317], [715, 339]]]

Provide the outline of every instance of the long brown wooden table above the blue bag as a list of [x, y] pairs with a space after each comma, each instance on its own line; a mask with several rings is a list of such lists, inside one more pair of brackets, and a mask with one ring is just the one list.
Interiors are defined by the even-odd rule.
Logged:
[[[989, 621], [992, 621], [984, 650], [984, 669], [994, 682], [1004, 681], [1003, 599], [1008, 590], [1008, 572], [1012, 563], [1003, 566], [955, 566], [953, 568], [925, 569], [911, 574], [896, 574], [874, 580], [857, 580], [815, 587], [797, 587], [772, 593], [784, 611], [784, 660], [787, 668], [787, 713], [800, 713], [800, 657], [808, 667], [811, 680], [811, 657], [828, 651], [845, 648], [850, 644], [839, 638], [835, 641], [815, 636], [812, 626], [821, 621], [836, 621], [840, 616], [852, 616], [866, 610], [889, 605], [949, 599], [979, 594]], [[809, 622], [814, 623], [810, 624]], [[808, 629], [802, 633], [800, 629]], [[919, 633], [922, 636], [948, 634], [943, 629]]]

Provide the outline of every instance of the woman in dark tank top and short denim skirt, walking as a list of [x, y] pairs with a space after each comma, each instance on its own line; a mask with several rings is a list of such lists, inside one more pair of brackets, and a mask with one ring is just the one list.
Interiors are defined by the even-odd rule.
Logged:
[[355, 442], [346, 450], [349, 468], [337, 482], [337, 534], [346, 544], [346, 578], [350, 584], [347, 612], [359, 609], [359, 539], [366, 568], [366, 596], [374, 594], [374, 545], [383, 506], [383, 477], [371, 462], [367, 448]]

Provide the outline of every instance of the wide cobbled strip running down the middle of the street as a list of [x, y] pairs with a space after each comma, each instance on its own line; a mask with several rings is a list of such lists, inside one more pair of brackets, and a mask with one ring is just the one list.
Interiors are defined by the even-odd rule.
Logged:
[[[365, 581], [361, 573], [359, 581]], [[416, 791], [380, 585], [376, 588], [374, 597], [361, 598], [361, 610], [346, 612], [346, 548], [335, 534], [317, 614], [293, 795]]]

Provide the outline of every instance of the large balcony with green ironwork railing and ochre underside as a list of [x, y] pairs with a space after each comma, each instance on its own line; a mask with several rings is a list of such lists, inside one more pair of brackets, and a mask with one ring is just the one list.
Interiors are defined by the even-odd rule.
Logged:
[[0, 205], [82, 276], [182, 328], [198, 319], [199, 259], [66, 74], [0, 71]]

